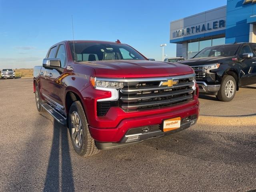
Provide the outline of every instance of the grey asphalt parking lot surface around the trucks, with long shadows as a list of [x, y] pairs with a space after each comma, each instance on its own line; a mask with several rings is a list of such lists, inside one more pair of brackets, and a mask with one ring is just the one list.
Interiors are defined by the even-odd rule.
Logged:
[[[230, 103], [201, 96], [201, 114], [255, 114], [255, 95], [256, 88], [241, 88]], [[256, 190], [256, 126], [198, 122], [84, 158], [74, 152], [67, 128], [36, 110], [31, 78], [0, 80], [0, 137], [3, 192]]]

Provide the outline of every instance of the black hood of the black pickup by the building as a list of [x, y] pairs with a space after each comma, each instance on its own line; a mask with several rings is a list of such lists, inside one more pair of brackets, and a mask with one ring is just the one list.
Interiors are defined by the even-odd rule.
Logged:
[[184, 61], [180, 61], [179, 63], [185, 64], [188, 66], [195, 65], [204, 65], [204, 64], [213, 64], [213, 63], [222, 63], [225, 60], [231, 60], [232, 57], [202, 57], [202, 58], [192, 58]]

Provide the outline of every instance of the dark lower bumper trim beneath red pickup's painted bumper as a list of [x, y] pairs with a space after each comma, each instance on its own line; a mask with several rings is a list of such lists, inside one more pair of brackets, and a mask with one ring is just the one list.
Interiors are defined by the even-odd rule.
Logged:
[[[98, 149], [103, 150], [103, 149], [118, 148], [118, 147], [130, 145], [130, 144], [136, 144], [136, 143], [139, 143], [139, 142], [142, 142], [145, 140], [158, 138], [158, 137], [166, 136], [169, 134], [174, 134], [176, 132], [180, 132], [180, 131], [196, 124], [196, 121], [197, 121], [197, 115], [183, 118], [180, 128], [171, 130], [168, 132], [163, 132], [161, 130], [160, 125], [133, 128], [126, 132], [126, 134], [123, 136], [123, 138], [120, 142], [111, 143], [111, 142], [97, 142], [96, 141], [96, 146]], [[150, 131], [151, 128], [152, 128], [152, 130]], [[148, 131], [145, 132], [145, 130], [148, 130]]]

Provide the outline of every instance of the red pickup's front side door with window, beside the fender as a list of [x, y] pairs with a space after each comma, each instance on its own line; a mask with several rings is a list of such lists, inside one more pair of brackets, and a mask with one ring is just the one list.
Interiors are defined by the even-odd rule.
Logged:
[[67, 62], [67, 54], [64, 44], [57, 46], [55, 58], [60, 59], [61, 68], [49, 69], [49, 98], [58, 109], [64, 111], [64, 85], [62, 79], [66, 76], [66, 74], [64, 74], [64, 68]]

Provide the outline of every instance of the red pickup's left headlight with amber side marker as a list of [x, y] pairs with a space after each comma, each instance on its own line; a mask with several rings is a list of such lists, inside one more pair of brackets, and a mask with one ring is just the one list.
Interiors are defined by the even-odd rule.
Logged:
[[115, 88], [120, 89], [124, 87], [123, 82], [97, 80], [96, 77], [90, 77], [90, 82], [95, 88]]

